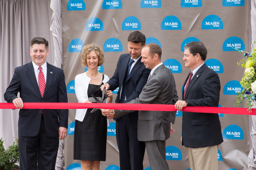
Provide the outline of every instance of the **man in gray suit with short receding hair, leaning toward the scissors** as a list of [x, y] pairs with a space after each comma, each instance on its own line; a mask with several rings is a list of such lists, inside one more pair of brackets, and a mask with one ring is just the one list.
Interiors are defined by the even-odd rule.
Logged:
[[[161, 62], [162, 49], [150, 43], [143, 47], [141, 62], [151, 69], [148, 82], [138, 98], [127, 104], [169, 104], [178, 101], [172, 72]], [[108, 118], [121, 117], [134, 111], [103, 109]], [[138, 140], [145, 141], [152, 170], [169, 169], [165, 156], [165, 140], [170, 138], [176, 112], [139, 111]]]

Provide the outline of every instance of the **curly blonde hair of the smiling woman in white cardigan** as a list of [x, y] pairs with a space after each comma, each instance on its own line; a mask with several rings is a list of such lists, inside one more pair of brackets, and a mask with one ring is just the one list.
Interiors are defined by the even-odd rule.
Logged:
[[103, 50], [100, 48], [100, 46], [95, 45], [94, 43], [88, 44], [87, 46], [84, 46], [81, 54], [81, 64], [83, 66], [88, 66], [87, 65], [87, 55], [91, 53], [94, 50], [94, 52], [97, 54], [99, 58], [98, 66], [101, 66], [104, 63], [104, 55], [103, 55]]

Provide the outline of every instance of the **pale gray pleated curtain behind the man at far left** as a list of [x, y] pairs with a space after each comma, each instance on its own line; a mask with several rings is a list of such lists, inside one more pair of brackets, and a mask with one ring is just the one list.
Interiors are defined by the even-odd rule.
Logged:
[[[54, 63], [51, 0], [0, 0], [0, 103], [14, 68], [31, 61], [29, 43], [34, 37], [49, 41], [47, 62]], [[7, 148], [18, 138], [18, 112], [0, 109], [0, 138]]]

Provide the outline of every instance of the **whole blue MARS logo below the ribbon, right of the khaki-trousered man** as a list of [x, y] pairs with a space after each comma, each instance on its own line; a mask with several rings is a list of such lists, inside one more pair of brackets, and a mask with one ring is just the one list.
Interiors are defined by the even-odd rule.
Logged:
[[231, 124], [222, 132], [223, 139], [244, 140], [244, 131], [237, 125]]

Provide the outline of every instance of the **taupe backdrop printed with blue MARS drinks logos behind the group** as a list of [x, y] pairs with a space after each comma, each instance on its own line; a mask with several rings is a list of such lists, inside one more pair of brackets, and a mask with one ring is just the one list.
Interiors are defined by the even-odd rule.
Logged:
[[[99, 67], [109, 77], [114, 74], [121, 54], [127, 53], [127, 37], [133, 30], [145, 34], [146, 43], [162, 47], [162, 61], [177, 84], [179, 99], [189, 69], [185, 67], [183, 47], [199, 40], [208, 50], [206, 65], [219, 74], [221, 81], [220, 107], [238, 107], [236, 91], [243, 69], [237, 61], [243, 56], [233, 48], [248, 50], [250, 3], [241, 0], [62, 0], [63, 70], [69, 102], [77, 102], [74, 79], [83, 73], [80, 55], [84, 45], [95, 43], [103, 47], [105, 63]], [[114, 91], [113, 91], [114, 92]], [[116, 97], [116, 96], [115, 96]], [[245, 105], [241, 105], [245, 107]], [[68, 137], [65, 139], [65, 166], [81, 165], [73, 160], [75, 110], [69, 110]], [[177, 112], [175, 133], [166, 141], [166, 159], [170, 169], [188, 169], [186, 148], [181, 146], [182, 112]], [[220, 114], [224, 142], [219, 150], [219, 169], [247, 169], [249, 153], [249, 118], [244, 115]], [[107, 159], [100, 169], [118, 169], [119, 155], [115, 138], [115, 121], [110, 120], [107, 137]], [[173, 156], [177, 155], [178, 156]], [[108, 167], [108, 168], [107, 168]], [[144, 168], [149, 167], [147, 153]]]

